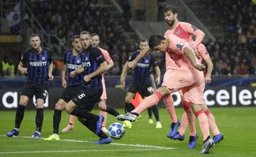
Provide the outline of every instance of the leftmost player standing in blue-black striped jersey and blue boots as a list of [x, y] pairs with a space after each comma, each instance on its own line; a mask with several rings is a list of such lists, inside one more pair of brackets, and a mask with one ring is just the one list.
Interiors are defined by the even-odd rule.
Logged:
[[32, 48], [22, 54], [18, 66], [18, 70], [22, 74], [27, 75], [27, 82], [20, 93], [20, 102], [15, 116], [15, 127], [6, 134], [7, 137], [19, 135], [25, 107], [33, 95], [36, 98], [36, 130], [32, 138], [40, 138], [41, 135], [43, 104], [48, 96], [48, 83], [53, 80], [53, 54], [51, 49], [40, 46], [41, 40], [39, 35], [30, 35], [29, 43]]

